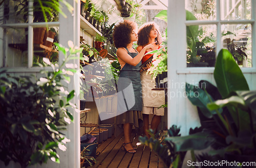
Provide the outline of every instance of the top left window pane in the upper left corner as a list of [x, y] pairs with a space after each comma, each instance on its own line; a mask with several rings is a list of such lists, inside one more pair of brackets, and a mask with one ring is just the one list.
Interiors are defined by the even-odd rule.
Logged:
[[28, 1], [4, 1], [4, 15], [0, 16], [0, 24], [28, 22]]

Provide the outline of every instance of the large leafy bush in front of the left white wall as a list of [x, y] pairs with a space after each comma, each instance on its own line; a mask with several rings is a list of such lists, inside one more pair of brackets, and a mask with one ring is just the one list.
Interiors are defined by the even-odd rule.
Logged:
[[0, 159], [5, 165], [14, 161], [24, 168], [48, 159], [59, 163], [57, 148], [65, 151], [65, 144], [70, 142], [62, 131], [73, 121], [71, 111], [76, 105], [70, 101], [75, 93], [68, 92], [63, 82], [69, 83], [69, 75], [76, 72], [68, 68], [68, 62], [79, 59], [82, 49], [75, 49], [71, 42], [70, 48], [55, 45], [65, 58], [59, 66], [43, 58], [52, 67], [52, 71], [41, 71], [44, 77], [0, 72]]

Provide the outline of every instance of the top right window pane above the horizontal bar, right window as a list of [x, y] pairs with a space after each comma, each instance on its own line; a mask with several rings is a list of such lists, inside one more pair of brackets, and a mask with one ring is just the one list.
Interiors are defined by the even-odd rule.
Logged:
[[251, 19], [251, 0], [221, 0], [221, 19]]

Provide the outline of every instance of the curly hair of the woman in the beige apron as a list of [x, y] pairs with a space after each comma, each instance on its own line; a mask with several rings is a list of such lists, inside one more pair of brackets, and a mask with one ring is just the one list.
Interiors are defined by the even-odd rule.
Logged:
[[137, 41], [138, 45], [144, 46], [148, 44], [148, 35], [150, 35], [150, 31], [152, 30], [153, 27], [156, 28], [157, 30], [157, 37], [155, 38], [155, 41], [157, 42], [156, 44], [162, 44], [163, 40], [162, 40], [161, 33], [159, 31], [159, 25], [154, 21], [152, 21], [152, 22], [144, 23], [140, 26], [138, 31], [138, 41]]

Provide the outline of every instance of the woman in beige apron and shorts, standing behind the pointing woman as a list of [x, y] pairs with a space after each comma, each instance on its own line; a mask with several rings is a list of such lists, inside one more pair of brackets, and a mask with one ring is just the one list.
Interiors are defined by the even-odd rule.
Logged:
[[[154, 43], [156, 42], [156, 43]], [[162, 36], [159, 31], [159, 26], [155, 22], [147, 22], [140, 26], [138, 31], [138, 47], [137, 51], [141, 52], [146, 45], [154, 43], [154, 49], [159, 49], [162, 47]], [[144, 53], [150, 50], [146, 50]], [[153, 54], [147, 54], [142, 58], [142, 64]], [[165, 104], [164, 101], [164, 91], [152, 91], [155, 88], [155, 81], [152, 79], [151, 74], [147, 74], [146, 71], [142, 71], [141, 75], [141, 85], [142, 85], [142, 116], [143, 116], [143, 130], [147, 137], [150, 135], [147, 133], [148, 130], [148, 117], [150, 114], [154, 114], [151, 121], [151, 129], [156, 133], [158, 125], [161, 122], [161, 116], [164, 116], [164, 108], [158, 107]]]

